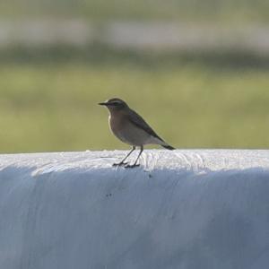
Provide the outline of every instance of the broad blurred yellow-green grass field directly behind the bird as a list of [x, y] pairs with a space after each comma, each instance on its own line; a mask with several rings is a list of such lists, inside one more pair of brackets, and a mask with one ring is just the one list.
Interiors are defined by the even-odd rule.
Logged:
[[267, 148], [268, 68], [111, 61], [0, 65], [0, 151], [126, 149], [108, 130], [128, 101], [178, 148]]

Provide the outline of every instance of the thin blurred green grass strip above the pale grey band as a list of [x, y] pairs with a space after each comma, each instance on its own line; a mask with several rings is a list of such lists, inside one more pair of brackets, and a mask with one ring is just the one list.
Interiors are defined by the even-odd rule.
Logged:
[[268, 22], [265, 0], [11, 0], [0, 2], [2, 17], [83, 17], [90, 20], [179, 22]]

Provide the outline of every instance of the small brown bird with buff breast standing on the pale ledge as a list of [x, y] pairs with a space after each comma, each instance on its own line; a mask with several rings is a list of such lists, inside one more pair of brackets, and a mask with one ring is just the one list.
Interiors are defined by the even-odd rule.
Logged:
[[[112, 133], [122, 142], [133, 146], [131, 152], [119, 163], [114, 163], [113, 166], [124, 165], [126, 168], [139, 166], [137, 161], [143, 152], [145, 144], [160, 144], [166, 149], [174, 150], [152, 130], [151, 126], [143, 120], [143, 117], [129, 108], [124, 100], [113, 98], [99, 104], [100, 106], [106, 106], [109, 110], [108, 122]], [[128, 163], [125, 161], [134, 152], [136, 146], [140, 147], [138, 157], [133, 165], [127, 165]]]

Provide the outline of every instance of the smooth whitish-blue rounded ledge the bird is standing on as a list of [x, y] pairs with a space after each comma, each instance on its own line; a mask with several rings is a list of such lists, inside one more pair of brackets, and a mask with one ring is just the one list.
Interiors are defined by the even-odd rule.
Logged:
[[264, 269], [269, 151], [0, 155], [0, 268]]

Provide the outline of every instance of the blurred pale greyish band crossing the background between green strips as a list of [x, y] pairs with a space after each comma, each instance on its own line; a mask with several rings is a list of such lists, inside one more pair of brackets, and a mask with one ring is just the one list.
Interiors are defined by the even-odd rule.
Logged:
[[269, 56], [269, 27], [265, 25], [230, 28], [210, 23], [102, 22], [86, 20], [22, 20], [0, 22], [0, 48], [58, 45], [85, 48], [102, 44], [134, 51], [240, 51]]

